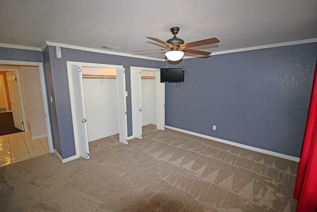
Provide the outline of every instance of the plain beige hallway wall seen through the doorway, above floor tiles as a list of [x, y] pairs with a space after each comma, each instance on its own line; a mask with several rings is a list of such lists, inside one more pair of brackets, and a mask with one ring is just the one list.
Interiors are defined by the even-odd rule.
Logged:
[[32, 138], [47, 136], [45, 112], [38, 67], [21, 66], [22, 81], [27, 105], [29, 131]]

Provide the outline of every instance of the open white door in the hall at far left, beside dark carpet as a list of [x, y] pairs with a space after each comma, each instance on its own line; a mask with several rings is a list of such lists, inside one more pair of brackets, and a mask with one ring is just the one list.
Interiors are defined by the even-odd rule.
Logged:
[[12, 108], [14, 127], [24, 131], [24, 126], [22, 122], [20, 97], [19, 97], [15, 71], [6, 72], [6, 78], [7, 78], [9, 94], [10, 94], [9, 104], [11, 104], [11, 108]]

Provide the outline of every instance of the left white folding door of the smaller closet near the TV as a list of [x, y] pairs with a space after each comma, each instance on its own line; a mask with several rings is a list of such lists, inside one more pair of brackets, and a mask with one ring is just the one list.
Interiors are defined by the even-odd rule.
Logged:
[[141, 70], [131, 70], [133, 136], [142, 139]]

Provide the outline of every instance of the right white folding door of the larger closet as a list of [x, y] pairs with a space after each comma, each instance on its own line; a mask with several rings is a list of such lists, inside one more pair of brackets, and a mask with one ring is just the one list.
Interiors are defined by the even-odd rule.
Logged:
[[122, 68], [116, 69], [118, 89], [118, 110], [119, 110], [119, 141], [127, 144], [127, 106], [125, 90], [125, 71]]

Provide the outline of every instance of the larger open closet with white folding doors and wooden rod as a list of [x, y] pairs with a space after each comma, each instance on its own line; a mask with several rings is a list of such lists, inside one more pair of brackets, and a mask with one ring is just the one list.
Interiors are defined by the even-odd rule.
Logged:
[[[76, 155], [90, 158], [89, 141], [119, 133], [127, 141], [125, 70], [122, 66], [67, 61]], [[69, 160], [67, 160], [69, 161]]]

